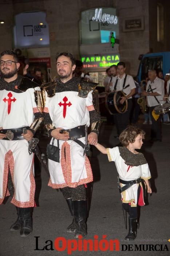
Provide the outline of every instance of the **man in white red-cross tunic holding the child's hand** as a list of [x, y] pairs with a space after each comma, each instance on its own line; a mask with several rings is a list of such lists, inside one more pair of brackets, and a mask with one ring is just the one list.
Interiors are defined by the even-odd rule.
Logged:
[[[100, 115], [93, 104], [94, 83], [73, 77], [75, 58], [63, 52], [56, 57], [56, 68], [60, 79], [56, 80], [53, 97], [46, 98], [44, 108], [51, 144], [60, 148], [59, 162], [48, 159], [52, 188], [61, 188], [67, 201], [73, 222], [67, 227], [68, 233], [85, 237], [87, 218], [86, 184], [93, 180], [90, 162], [83, 155], [85, 126], [91, 124], [88, 142], [98, 140]], [[89, 88], [88, 88], [89, 87]], [[49, 93], [50, 88], [46, 88]], [[55, 94], [55, 95], [54, 95]], [[49, 95], [52, 96], [52, 95]]]

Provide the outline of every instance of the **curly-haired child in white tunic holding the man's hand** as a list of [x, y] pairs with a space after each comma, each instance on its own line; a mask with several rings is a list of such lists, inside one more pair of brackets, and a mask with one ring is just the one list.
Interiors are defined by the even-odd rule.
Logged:
[[149, 185], [151, 178], [149, 166], [141, 149], [145, 132], [133, 126], [127, 127], [119, 136], [123, 147], [105, 148], [99, 143], [95, 146], [103, 154], [107, 154], [109, 161], [114, 161], [119, 174], [119, 192], [121, 192], [123, 208], [129, 213], [129, 233], [124, 238], [134, 240], [137, 236], [138, 211], [137, 206], [144, 206], [143, 188], [141, 182], [145, 180], [147, 192], [152, 193]]

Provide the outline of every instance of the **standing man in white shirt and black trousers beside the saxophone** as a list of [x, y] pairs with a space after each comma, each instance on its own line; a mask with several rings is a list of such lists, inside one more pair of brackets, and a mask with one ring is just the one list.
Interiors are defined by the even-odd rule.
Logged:
[[151, 125], [151, 142], [161, 141], [161, 127], [159, 118], [155, 120], [153, 117], [153, 110], [156, 106], [162, 103], [164, 96], [164, 81], [157, 77], [157, 72], [155, 70], [150, 70], [148, 72], [149, 81], [147, 82], [146, 91], [142, 92], [142, 96], [146, 96], [147, 105], [149, 106], [149, 113], [152, 120]]

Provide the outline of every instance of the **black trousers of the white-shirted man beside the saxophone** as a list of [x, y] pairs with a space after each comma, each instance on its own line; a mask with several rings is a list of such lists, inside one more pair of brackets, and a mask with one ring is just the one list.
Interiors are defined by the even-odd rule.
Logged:
[[160, 122], [160, 116], [157, 121], [152, 116], [152, 111], [154, 107], [149, 107], [149, 113], [151, 115], [151, 120], [152, 120], [152, 125], [151, 125], [151, 139], [157, 139], [161, 140], [162, 139], [162, 134], [161, 134], [161, 122]]

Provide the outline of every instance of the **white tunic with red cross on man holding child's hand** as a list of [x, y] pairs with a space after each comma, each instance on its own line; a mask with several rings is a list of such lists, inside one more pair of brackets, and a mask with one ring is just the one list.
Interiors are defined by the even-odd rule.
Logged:
[[[77, 91], [64, 91], [46, 99], [44, 112], [50, 114], [55, 128], [71, 129], [79, 125], [90, 125], [89, 111], [94, 110], [92, 91], [86, 98], [79, 97]], [[79, 140], [85, 144], [85, 137]], [[54, 145], [57, 146], [56, 139]], [[60, 162], [48, 160], [50, 172], [48, 185], [52, 188], [75, 188], [91, 182], [92, 170], [88, 158], [83, 156], [83, 147], [73, 140], [59, 140], [59, 147]]]

